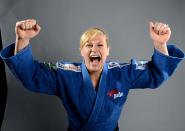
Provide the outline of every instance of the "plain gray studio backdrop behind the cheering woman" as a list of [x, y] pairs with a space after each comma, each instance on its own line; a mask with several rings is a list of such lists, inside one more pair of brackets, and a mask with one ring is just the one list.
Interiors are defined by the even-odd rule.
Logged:
[[[147, 59], [153, 53], [149, 21], [170, 25], [170, 42], [185, 51], [183, 0], [0, 0], [4, 46], [15, 41], [16, 21], [34, 18], [42, 27], [31, 41], [40, 61], [81, 61], [79, 38], [92, 26], [110, 36], [110, 60]], [[7, 68], [6, 68], [7, 69]], [[67, 115], [55, 96], [33, 93], [7, 69], [8, 100], [2, 131], [63, 131]], [[185, 62], [156, 90], [132, 90], [119, 120], [125, 131], [185, 130]]]

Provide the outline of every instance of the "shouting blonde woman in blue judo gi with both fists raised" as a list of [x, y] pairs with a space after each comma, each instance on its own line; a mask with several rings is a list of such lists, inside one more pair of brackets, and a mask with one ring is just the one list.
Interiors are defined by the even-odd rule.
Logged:
[[171, 35], [167, 24], [149, 25], [155, 48], [151, 61], [106, 62], [108, 36], [99, 28], [90, 28], [80, 39], [82, 63], [40, 63], [33, 58], [29, 42], [41, 28], [31, 19], [16, 23], [16, 43], [6, 47], [1, 57], [26, 88], [62, 100], [68, 130], [119, 130], [117, 123], [129, 90], [159, 87], [184, 58], [182, 51], [167, 45]]

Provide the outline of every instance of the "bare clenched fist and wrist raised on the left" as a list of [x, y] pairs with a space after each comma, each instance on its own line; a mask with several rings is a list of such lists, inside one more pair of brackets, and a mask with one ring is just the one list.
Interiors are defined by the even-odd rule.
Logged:
[[38, 35], [40, 30], [40, 26], [34, 19], [18, 21], [15, 26], [16, 43], [14, 54], [25, 48], [30, 39]]

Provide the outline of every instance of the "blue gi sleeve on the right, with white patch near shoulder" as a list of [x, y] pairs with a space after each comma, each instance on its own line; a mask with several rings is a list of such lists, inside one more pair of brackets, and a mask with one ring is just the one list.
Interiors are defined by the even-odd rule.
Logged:
[[167, 48], [169, 56], [154, 49], [151, 61], [131, 60], [127, 74], [131, 89], [157, 88], [174, 73], [184, 59], [184, 53], [174, 45], [168, 45]]

